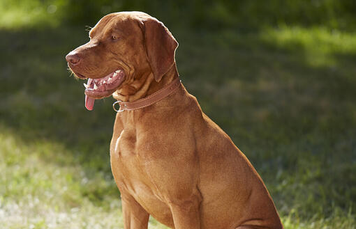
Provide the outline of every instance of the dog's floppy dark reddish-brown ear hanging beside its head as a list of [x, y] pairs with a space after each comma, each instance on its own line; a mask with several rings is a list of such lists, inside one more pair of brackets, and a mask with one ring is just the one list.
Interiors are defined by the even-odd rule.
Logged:
[[178, 47], [178, 42], [164, 24], [154, 17], [142, 19], [141, 29], [147, 60], [154, 79], [158, 82], [175, 63], [175, 49]]

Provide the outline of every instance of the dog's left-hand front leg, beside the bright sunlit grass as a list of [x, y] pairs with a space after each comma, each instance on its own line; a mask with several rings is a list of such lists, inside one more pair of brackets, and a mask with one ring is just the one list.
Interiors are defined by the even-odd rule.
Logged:
[[124, 229], [147, 229], [149, 214], [129, 195], [121, 194]]

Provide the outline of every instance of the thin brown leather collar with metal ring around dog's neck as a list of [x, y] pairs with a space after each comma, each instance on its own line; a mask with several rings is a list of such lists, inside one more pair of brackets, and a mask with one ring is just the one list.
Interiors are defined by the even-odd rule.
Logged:
[[[159, 100], [162, 100], [163, 98], [167, 97], [168, 95], [173, 93], [180, 85], [181, 85], [181, 80], [179, 79], [179, 77], [177, 77], [177, 79], [170, 82], [170, 84], [164, 86], [161, 90], [157, 90], [155, 93], [147, 97], [144, 97], [143, 99], [136, 100], [133, 102], [117, 101], [112, 104], [112, 108], [114, 109], [114, 111], [117, 112], [133, 111], [133, 110], [141, 109], [143, 107], [154, 104], [155, 102], [158, 102]], [[115, 108], [116, 104], [120, 105], [119, 110]]]

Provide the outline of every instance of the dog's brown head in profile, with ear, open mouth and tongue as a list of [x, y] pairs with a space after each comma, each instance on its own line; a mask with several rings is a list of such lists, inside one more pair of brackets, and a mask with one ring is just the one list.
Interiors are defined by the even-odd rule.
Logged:
[[89, 42], [66, 56], [71, 71], [88, 79], [85, 106], [115, 91], [135, 93], [147, 76], [161, 81], [175, 64], [178, 43], [156, 18], [142, 12], [111, 13], [89, 32]]

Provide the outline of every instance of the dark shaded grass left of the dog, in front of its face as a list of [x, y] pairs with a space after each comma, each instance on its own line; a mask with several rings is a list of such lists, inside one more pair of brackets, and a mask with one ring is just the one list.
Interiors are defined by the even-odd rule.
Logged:
[[68, 148], [97, 155], [98, 145], [110, 140], [114, 113], [103, 111], [101, 104], [97, 112], [84, 110], [82, 82], [70, 77], [64, 59], [87, 40], [85, 33], [59, 28], [0, 34], [2, 125], [26, 141], [60, 141]]

